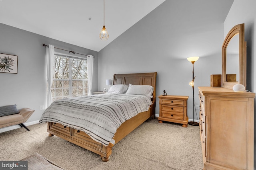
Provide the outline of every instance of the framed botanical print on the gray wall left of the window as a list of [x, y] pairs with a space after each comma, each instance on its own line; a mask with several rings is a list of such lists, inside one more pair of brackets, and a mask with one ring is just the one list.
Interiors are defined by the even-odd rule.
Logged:
[[18, 73], [18, 56], [0, 53], [0, 73]]

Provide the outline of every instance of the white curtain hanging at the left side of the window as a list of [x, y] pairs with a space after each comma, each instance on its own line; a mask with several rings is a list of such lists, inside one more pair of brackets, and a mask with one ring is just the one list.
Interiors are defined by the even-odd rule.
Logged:
[[50, 106], [52, 104], [52, 80], [53, 80], [53, 66], [54, 66], [54, 46], [49, 45], [49, 47], [46, 47], [46, 78], [47, 78], [47, 98], [46, 98], [46, 104]]

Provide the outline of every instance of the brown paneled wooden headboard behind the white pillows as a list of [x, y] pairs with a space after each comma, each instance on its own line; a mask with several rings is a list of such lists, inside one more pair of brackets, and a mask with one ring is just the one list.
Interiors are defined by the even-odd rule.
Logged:
[[[153, 107], [155, 113], [156, 106], [156, 72], [149, 73], [133, 73], [133, 74], [114, 74], [113, 84], [126, 84], [126, 85], [150, 85], [153, 86]], [[154, 114], [155, 115], [155, 114]], [[154, 117], [153, 115], [153, 117]]]

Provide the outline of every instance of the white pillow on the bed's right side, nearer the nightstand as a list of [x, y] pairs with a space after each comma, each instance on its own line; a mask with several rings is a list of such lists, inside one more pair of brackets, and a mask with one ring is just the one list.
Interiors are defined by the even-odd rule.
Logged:
[[153, 98], [153, 86], [150, 85], [132, 85], [129, 84], [126, 94], [142, 94]]

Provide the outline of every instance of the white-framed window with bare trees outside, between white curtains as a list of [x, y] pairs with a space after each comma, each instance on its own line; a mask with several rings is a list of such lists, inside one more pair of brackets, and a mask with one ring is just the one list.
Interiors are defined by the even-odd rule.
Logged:
[[55, 55], [52, 101], [88, 95], [87, 61]]

